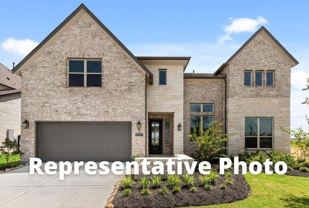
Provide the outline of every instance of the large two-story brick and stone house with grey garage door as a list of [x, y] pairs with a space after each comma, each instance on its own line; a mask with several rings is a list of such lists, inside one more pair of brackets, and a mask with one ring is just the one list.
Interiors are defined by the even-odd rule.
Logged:
[[[22, 76], [23, 159], [128, 161], [192, 154], [188, 135], [225, 123], [227, 154], [290, 152], [290, 68], [261, 27], [214, 74], [189, 57], [135, 57], [83, 4], [13, 71]], [[139, 129], [140, 128], [140, 129]]]

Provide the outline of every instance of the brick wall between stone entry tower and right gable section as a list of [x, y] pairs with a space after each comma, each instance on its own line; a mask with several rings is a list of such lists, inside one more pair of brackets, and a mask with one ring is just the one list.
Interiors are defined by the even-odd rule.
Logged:
[[[214, 104], [214, 112], [190, 112], [190, 104]], [[190, 142], [190, 116], [210, 115], [224, 122], [224, 79], [184, 79], [184, 154], [195, 154]]]

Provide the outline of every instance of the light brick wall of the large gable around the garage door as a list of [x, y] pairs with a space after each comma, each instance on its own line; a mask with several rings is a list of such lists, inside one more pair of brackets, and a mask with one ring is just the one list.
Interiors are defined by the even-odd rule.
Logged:
[[[102, 59], [102, 87], [67, 87], [68, 58]], [[131, 121], [132, 153], [145, 156], [145, 72], [87, 14], [22, 72], [24, 160], [35, 156], [35, 121]]]

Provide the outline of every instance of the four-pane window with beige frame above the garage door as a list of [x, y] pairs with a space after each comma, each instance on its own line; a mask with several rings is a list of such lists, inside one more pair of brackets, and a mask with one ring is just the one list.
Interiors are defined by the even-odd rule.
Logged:
[[68, 86], [72, 87], [101, 87], [101, 60], [69, 60]]

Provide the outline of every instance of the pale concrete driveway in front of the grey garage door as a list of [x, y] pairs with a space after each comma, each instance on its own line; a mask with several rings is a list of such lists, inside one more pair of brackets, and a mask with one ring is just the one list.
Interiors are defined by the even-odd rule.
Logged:
[[72, 171], [64, 180], [59, 180], [58, 171], [56, 175], [43, 173], [30, 175], [26, 166], [0, 174], [0, 207], [102, 208], [120, 178], [111, 171], [108, 175], [88, 175], [82, 167], [79, 175]]

